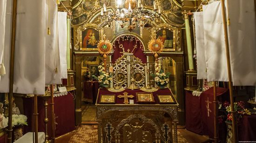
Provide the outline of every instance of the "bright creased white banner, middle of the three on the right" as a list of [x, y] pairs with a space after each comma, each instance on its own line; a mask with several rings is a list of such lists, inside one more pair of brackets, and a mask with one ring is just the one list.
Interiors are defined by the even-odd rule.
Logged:
[[202, 6], [208, 81], [228, 81], [221, 1]]

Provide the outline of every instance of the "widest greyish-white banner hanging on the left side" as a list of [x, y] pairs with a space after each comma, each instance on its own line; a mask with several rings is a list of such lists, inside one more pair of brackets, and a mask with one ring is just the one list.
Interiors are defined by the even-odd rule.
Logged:
[[14, 93], [45, 93], [45, 0], [18, 0]]

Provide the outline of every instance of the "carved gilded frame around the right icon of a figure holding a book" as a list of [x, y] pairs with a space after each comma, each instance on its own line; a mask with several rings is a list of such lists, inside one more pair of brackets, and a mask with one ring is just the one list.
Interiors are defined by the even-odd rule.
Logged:
[[173, 32], [173, 48], [163, 48], [163, 52], [165, 51], [181, 51], [181, 45], [180, 45], [180, 36], [179, 36], [179, 29], [177, 27], [174, 27], [172, 25], [169, 24], [160, 24], [157, 27], [153, 27], [152, 28], [152, 37], [155, 37], [155, 34], [157, 31], [160, 31], [162, 29], [168, 29], [169, 31]]

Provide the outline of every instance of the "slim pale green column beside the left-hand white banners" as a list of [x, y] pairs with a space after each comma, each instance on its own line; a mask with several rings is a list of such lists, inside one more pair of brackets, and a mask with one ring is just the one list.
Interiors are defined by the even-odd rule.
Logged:
[[67, 18], [67, 70], [70, 68], [70, 18]]

